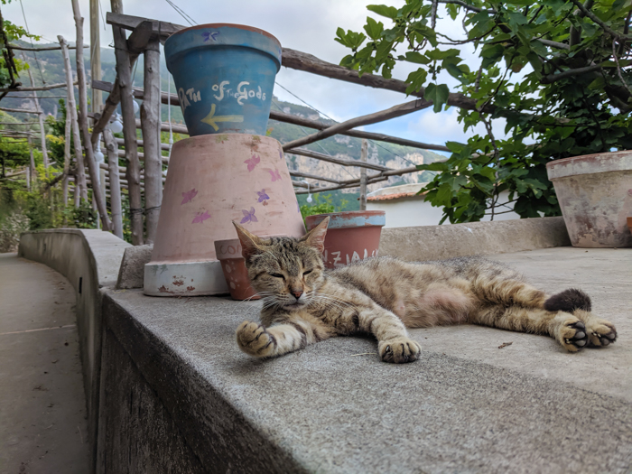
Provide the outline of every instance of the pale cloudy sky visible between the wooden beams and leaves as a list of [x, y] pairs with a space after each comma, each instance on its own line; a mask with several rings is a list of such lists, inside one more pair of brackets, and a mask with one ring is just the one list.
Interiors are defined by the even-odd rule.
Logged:
[[[124, 13], [171, 23], [189, 25], [178, 14], [167, 0], [122, 0]], [[349, 50], [334, 41], [338, 27], [344, 30], [362, 31], [367, 14], [390, 26], [390, 20], [380, 18], [367, 11], [367, 5], [379, 3], [399, 7], [402, 0], [171, 0], [196, 23], [241, 23], [261, 28], [273, 34], [283, 47], [310, 53], [321, 60], [334, 64], [349, 53]], [[56, 42], [57, 35], [62, 35], [70, 42], [75, 41], [76, 30], [70, 0], [22, 0], [26, 22], [32, 33], [42, 35], [42, 42]], [[101, 47], [112, 44], [112, 29], [105, 24], [105, 14], [110, 11], [109, 0], [100, 0], [101, 5]], [[79, 0], [84, 23], [84, 42], [89, 42], [89, 3]], [[24, 24], [20, 0], [12, 0], [9, 5], [2, 6], [6, 19], [16, 24]], [[439, 20], [438, 25], [451, 23], [451, 19]], [[451, 23], [454, 24], [454, 23]], [[460, 25], [460, 21], [456, 23]], [[452, 27], [454, 30], [454, 27]], [[460, 27], [458, 28], [460, 31]], [[459, 32], [451, 31], [454, 36]], [[464, 49], [461, 57], [477, 67], [473, 51]], [[393, 77], [406, 79], [412, 65], [398, 64]], [[477, 67], [478, 68], [478, 67]], [[322, 78], [307, 72], [281, 68], [276, 81], [293, 94], [302, 98], [311, 107], [331, 118], [344, 121], [355, 116], [370, 114], [393, 107], [412, 98], [397, 92], [367, 88], [347, 82]], [[445, 83], [449, 87], [455, 85], [454, 79], [447, 77]], [[452, 89], [453, 90], [453, 89]], [[297, 98], [275, 87], [274, 95], [282, 100], [301, 104]], [[502, 126], [495, 126], [498, 135]], [[467, 135], [462, 125], [457, 122], [457, 110], [451, 108], [441, 114], [434, 114], [432, 109], [415, 112], [376, 125], [364, 128], [371, 132], [395, 135], [428, 144], [444, 144], [446, 141], [464, 142], [467, 136], [485, 133], [480, 125]]]

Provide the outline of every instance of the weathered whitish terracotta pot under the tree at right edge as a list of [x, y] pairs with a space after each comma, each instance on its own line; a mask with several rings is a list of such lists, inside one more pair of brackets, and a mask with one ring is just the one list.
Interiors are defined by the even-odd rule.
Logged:
[[632, 246], [632, 151], [547, 163], [572, 246]]

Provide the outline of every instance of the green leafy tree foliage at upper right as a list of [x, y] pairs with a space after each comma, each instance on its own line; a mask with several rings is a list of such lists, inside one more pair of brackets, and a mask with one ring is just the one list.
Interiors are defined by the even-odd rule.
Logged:
[[[386, 24], [367, 17], [364, 33], [339, 28], [336, 41], [351, 49], [340, 64], [390, 78], [397, 62], [412, 63], [407, 93], [421, 92], [435, 112], [459, 104], [465, 130], [487, 130], [449, 142], [447, 162], [419, 166], [438, 172], [422, 191], [443, 207], [441, 222], [493, 218], [506, 204], [502, 191], [523, 218], [559, 215], [546, 163], [632, 148], [632, 0], [405, 0], [367, 9]], [[460, 57], [466, 43], [478, 55], [472, 69]], [[447, 74], [458, 92], [441, 83]], [[507, 139], [492, 133], [497, 118]]]

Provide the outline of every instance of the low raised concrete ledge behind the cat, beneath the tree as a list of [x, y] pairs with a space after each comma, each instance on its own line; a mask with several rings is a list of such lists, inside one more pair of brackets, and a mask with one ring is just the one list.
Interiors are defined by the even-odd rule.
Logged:
[[524, 218], [451, 226], [385, 228], [380, 256], [409, 262], [570, 246], [563, 218]]

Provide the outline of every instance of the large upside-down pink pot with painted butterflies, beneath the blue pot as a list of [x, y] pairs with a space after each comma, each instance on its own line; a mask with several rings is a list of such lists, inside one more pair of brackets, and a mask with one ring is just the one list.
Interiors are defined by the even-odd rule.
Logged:
[[144, 293], [228, 293], [214, 242], [236, 237], [233, 221], [258, 236], [304, 234], [281, 144], [246, 134], [174, 144]]

